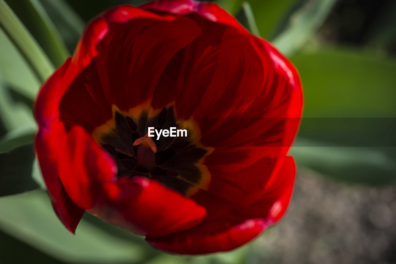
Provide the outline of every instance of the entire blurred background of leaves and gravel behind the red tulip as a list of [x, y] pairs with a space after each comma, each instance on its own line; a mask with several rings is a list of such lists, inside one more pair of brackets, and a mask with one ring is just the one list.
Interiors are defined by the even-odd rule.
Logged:
[[[72, 54], [92, 17], [146, 1], [5, 2], [0, 263], [396, 263], [396, 1], [216, 1], [291, 59], [305, 109], [291, 149], [295, 191], [283, 220], [240, 249], [208, 256], [158, 252], [89, 214], [70, 234], [51, 208], [31, 151], [32, 104], [42, 80]], [[38, 62], [41, 70], [32, 71]]]

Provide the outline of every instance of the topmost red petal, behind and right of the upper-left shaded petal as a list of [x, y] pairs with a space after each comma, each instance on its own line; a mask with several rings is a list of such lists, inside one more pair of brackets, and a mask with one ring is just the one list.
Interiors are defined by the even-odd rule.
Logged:
[[[175, 101], [179, 118], [220, 117], [215, 112], [216, 108], [212, 108], [215, 105], [228, 110], [230, 101], [237, 98], [234, 96], [235, 89], [230, 89], [230, 86], [232, 83], [240, 83], [240, 73], [245, 69], [245, 65], [239, 63], [240, 60], [244, 61], [245, 56], [257, 58], [257, 54], [250, 55], [251, 48], [246, 49], [249, 33], [215, 4], [164, 0], [150, 2], [141, 8], [186, 15], [194, 19], [202, 29], [200, 37], [169, 62], [156, 88], [152, 106], [161, 108]], [[239, 55], [244, 51], [247, 54]], [[260, 59], [256, 61], [261, 63]], [[256, 77], [263, 78], [254, 74], [250, 77], [254, 80]], [[224, 96], [224, 91], [229, 96]], [[211, 115], [206, 115], [207, 112]]]

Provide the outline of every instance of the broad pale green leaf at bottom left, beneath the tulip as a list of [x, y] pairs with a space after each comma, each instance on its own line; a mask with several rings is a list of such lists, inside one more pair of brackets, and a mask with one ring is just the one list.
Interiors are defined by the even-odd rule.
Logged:
[[[138, 263], [150, 256], [142, 237], [123, 239], [85, 219], [70, 233], [42, 190], [0, 198], [0, 229], [57, 260], [73, 263]], [[118, 229], [112, 227], [114, 229]]]

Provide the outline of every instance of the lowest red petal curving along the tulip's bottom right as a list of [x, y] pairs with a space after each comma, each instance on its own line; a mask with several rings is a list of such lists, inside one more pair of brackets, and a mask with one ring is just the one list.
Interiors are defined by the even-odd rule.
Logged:
[[190, 230], [162, 237], [146, 237], [153, 247], [178, 254], [205, 254], [235, 249], [259, 235], [284, 214], [295, 176], [293, 158], [287, 157], [280, 174], [268, 183], [265, 195], [251, 205], [239, 205], [199, 191], [194, 199], [206, 207], [207, 218]]

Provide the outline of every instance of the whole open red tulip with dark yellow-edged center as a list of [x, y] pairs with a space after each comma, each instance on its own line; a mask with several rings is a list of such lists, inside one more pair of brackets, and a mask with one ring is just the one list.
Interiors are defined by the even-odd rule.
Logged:
[[42, 86], [36, 150], [71, 232], [88, 211], [157, 249], [227, 251], [284, 214], [301, 109], [293, 65], [217, 5], [120, 6]]

